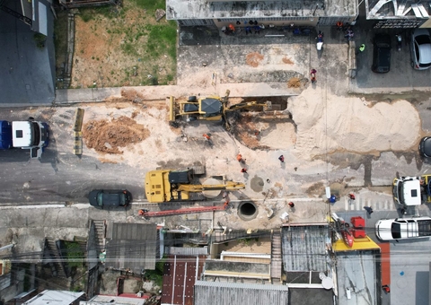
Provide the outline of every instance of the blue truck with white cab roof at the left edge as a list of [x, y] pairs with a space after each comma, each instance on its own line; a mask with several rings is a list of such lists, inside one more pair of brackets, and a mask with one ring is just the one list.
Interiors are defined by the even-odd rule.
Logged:
[[0, 120], [0, 149], [29, 149], [31, 158], [40, 158], [48, 143], [47, 123], [32, 118], [13, 122]]

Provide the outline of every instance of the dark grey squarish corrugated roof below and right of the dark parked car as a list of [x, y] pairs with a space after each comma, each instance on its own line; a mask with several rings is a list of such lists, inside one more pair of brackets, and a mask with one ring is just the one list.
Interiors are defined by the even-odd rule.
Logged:
[[154, 223], [116, 223], [112, 239], [106, 246], [106, 263], [115, 269], [130, 269], [140, 274], [142, 269], [155, 268], [157, 225]]

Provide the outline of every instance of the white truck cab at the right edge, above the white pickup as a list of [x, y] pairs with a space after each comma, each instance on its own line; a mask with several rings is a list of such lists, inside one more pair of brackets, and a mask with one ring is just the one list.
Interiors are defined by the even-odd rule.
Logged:
[[431, 203], [431, 175], [393, 179], [393, 198], [400, 205]]

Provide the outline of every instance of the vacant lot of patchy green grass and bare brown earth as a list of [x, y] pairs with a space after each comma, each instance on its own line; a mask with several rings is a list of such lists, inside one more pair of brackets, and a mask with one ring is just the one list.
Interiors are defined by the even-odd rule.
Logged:
[[154, 14], [133, 5], [125, 1], [110, 18], [94, 13], [84, 22], [75, 16], [72, 88], [174, 83], [175, 60], [165, 48], [161, 52], [147, 48], [151, 26], [167, 21], [156, 22]]

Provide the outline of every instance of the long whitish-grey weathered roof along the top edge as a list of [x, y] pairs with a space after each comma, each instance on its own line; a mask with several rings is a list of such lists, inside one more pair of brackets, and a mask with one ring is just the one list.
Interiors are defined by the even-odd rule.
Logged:
[[205, 2], [201, 0], [166, 0], [166, 19], [252, 19], [354, 16], [356, 1], [289, 0]]

